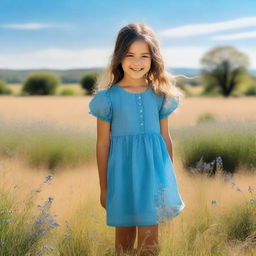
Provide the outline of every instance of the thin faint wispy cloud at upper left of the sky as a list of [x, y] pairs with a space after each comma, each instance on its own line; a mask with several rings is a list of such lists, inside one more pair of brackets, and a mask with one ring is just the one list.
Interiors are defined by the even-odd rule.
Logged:
[[17, 30], [39, 30], [48, 28], [63, 28], [67, 25], [47, 24], [47, 23], [20, 23], [20, 24], [4, 24], [0, 28], [17, 29]]

